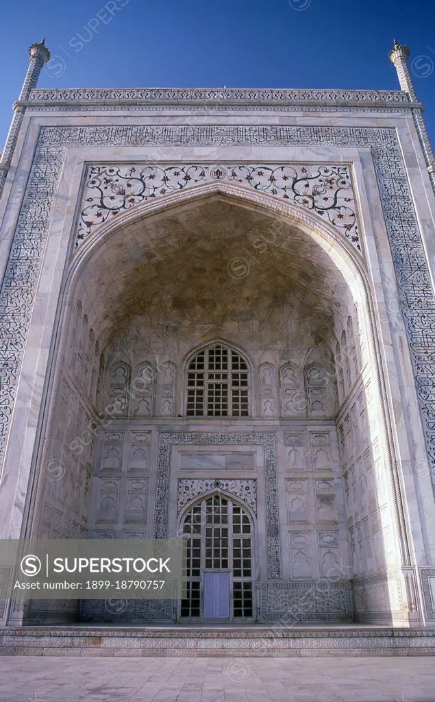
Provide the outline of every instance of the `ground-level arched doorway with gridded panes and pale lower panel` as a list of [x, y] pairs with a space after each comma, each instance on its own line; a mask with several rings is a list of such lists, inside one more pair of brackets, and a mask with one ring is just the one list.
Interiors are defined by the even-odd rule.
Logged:
[[253, 621], [253, 520], [222, 494], [189, 507], [182, 519], [186, 541], [180, 618]]

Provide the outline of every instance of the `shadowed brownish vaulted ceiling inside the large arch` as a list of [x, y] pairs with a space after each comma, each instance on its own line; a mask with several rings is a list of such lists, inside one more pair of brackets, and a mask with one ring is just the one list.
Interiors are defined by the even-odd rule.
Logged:
[[229, 320], [279, 334], [283, 310], [321, 340], [350, 303], [342, 274], [307, 234], [222, 196], [116, 234], [83, 270], [78, 296], [105, 342], [147, 324], [219, 336]]

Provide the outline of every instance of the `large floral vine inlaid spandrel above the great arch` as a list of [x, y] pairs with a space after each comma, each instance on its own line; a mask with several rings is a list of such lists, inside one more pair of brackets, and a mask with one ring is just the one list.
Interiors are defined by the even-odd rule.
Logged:
[[216, 181], [256, 190], [308, 210], [333, 225], [361, 253], [351, 169], [335, 164], [88, 166], [75, 248], [121, 212]]

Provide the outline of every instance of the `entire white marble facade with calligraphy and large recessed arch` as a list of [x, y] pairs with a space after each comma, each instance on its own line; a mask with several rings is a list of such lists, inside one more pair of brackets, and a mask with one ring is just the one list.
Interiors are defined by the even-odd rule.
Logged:
[[[435, 202], [410, 102], [239, 93], [30, 93], [1, 199], [1, 536], [178, 536], [218, 495], [250, 520], [250, 621], [433, 627]], [[222, 411], [210, 366], [192, 416], [217, 348], [246, 394]]]

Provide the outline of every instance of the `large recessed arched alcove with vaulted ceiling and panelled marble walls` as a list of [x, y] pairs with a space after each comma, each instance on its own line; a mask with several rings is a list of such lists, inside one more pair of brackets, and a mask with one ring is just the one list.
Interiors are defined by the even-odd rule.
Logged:
[[[352, 576], [408, 551], [361, 257], [307, 213], [227, 185], [116, 219], [65, 273], [27, 534], [165, 538], [185, 492], [200, 496], [218, 475], [252, 497], [252, 597], [233, 569], [227, 609], [209, 610], [204, 593], [224, 587], [225, 567], [222, 557], [213, 576], [200, 554], [185, 616], [249, 618], [261, 588], [261, 618], [276, 620], [294, 593], [333, 574], [340, 597], [307, 618], [349, 618]], [[237, 383], [249, 359], [248, 395], [211, 367], [224, 347]], [[56, 483], [50, 461], [62, 468]], [[128, 616], [174, 612], [144, 604]]]

